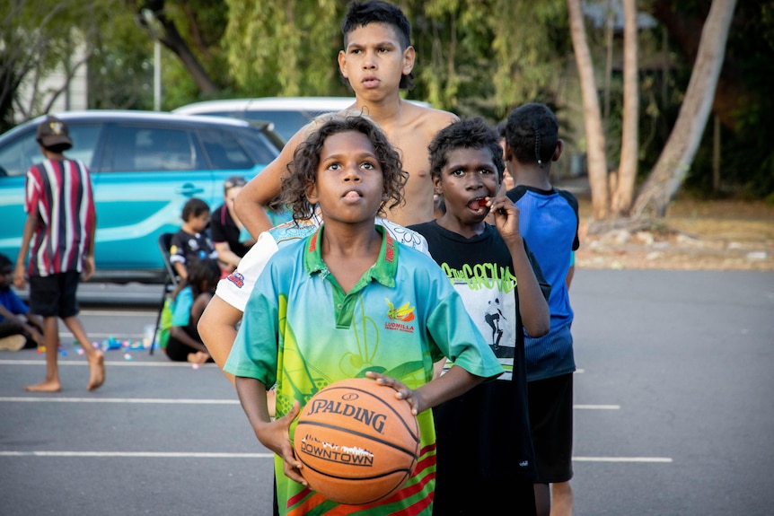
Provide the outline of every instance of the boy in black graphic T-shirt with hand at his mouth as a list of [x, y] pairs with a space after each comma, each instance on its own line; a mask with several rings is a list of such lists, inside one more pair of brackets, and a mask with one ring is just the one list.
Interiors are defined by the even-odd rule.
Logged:
[[[550, 286], [519, 232], [518, 208], [497, 195], [505, 169], [498, 140], [483, 118], [439, 131], [430, 170], [446, 210], [409, 226], [425, 236], [506, 370], [433, 409], [439, 516], [535, 514], [523, 330], [535, 337], [549, 331]], [[490, 212], [494, 226], [486, 222]]]

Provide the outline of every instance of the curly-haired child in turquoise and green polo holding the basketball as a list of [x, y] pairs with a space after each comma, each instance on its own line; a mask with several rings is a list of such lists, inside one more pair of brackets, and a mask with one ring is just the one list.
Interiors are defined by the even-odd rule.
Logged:
[[[419, 466], [396, 494], [358, 511], [429, 515], [435, 431], [427, 409], [503, 372], [435, 262], [374, 223], [400, 203], [404, 180], [398, 153], [363, 117], [323, 124], [298, 146], [283, 180], [294, 219], [319, 205], [323, 223], [269, 259], [224, 367], [259, 441], [277, 454], [282, 514], [340, 513], [306, 485], [291, 444], [301, 405], [326, 385], [369, 377], [409, 403], [421, 428]], [[454, 366], [433, 379], [444, 356]], [[274, 383], [271, 421], [266, 389]]]

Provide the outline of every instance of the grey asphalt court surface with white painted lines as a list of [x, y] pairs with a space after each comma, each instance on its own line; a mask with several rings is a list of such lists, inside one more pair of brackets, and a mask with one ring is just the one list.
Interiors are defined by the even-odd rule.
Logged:
[[[93, 341], [154, 323], [153, 289], [124, 290], [84, 305]], [[770, 514], [774, 275], [578, 270], [570, 296], [576, 515]], [[0, 512], [271, 513], [271, 455], [214, 365], [108, 351], [90, 393], [60, 330], [60, 393], [23, 390], [41, 354], [0, 352]]]

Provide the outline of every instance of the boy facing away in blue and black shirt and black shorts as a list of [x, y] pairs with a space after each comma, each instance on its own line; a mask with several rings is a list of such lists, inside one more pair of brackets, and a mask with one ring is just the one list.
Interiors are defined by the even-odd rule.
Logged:
[[[507, 196], [519, 207], [520, 232], [530, 244], [551, 285], [548, 335], [526, 336], [530, 421], [539, 503], [551, 514], [573, 513], [570, 487], [573, 442], [573, 372], [576, 370], [570, 331], [573, 310], [569, 301], [573, 251], [578, 249], [578, 204], [571, 193], [553, 188], [551, 163], [559, 160], [564, 144], [559, 122], [545, 104], [529, 103], [514, 109], [506, 122], [506, 162], [515, 187]], [[550, 485], [550, 493], [549, 493]]]

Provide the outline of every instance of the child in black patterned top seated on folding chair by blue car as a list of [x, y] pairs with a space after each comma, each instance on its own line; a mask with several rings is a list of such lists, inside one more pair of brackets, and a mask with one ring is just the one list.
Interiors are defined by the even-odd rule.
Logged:
[[192, 263], [205, 258], [217, 258], [217, 251], [204, 232], [209, 223], [209, 206], [196, 197], [191, 197], [182, 213], [180, 230], [172, 235], [170, 262], [181, 279], [188, 277]]

